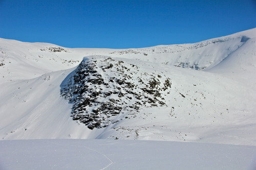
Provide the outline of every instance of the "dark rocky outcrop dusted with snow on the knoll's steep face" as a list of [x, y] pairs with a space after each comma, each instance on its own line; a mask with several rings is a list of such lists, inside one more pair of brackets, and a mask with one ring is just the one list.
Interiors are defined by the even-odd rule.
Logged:
[[118, 58], [90, 56], [63, 81], [60, 93], [73, 103], [73, 120], [94, 129], [118, 122], [117, 117], [135, 117], [141, 107], [165, 106], [163, 96], [171, 85], [161, 72], [141, 72]]

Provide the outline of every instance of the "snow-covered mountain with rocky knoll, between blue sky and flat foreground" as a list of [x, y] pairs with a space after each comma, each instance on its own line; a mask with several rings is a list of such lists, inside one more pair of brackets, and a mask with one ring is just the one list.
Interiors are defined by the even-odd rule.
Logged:
[[255, 34], [124, 50], [0, 39], [0, 137], [255, 145]]

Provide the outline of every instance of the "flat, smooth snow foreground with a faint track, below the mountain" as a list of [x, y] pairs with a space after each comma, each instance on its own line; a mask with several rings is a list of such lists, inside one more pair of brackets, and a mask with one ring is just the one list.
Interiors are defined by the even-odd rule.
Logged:
[[170, 141], [0, 141], [0, 169], [248, 169], [256, 147]]

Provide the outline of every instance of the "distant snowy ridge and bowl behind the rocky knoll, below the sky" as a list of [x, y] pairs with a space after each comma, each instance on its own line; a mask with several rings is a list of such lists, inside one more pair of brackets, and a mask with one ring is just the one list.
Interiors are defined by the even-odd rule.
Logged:
[[[193, 69], [209, 69], [239, 50], [247, 40], [250, 40], [253, 46], [254, 42], [251, 40], [256, 37], [255, 30], [193, 44], [158, 45], [123, 50], [65, 48], [49, 43], [28, 43], [0, 38], [0, 66], [2, 66], [0, 68], [4, 70], [1, 71], [3, 74], [1, 78], [5, 77], [4, 81], [35, 78], [51, 71], [71, 68], [79, 64], [84, 56], [91, 55], [129, 58]], [[21, 69], [23, 71], [19, 71]]]

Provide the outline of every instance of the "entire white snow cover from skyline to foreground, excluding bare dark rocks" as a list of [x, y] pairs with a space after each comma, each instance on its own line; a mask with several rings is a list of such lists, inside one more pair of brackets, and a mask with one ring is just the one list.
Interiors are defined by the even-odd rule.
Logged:
[[[253, 169], [255, 35], [256, 29], [251, 29], [193, 44], [124, 50], [65, 48], [0, 38], [0, 169]], [[81, 80], [83, 84], [80, 80], [73, 84], [74, 76], [81, 74], [78, 70], [86, 68], [79, 68], [82, 60], [95, 62], [94, 73], [112, 84], [104, 88], [100, 83], [90, 84], [88, 78], [93, 75]], [[112, 79], [122, 79], [123, 74], [126, 84], [137, 88], [132, 93]], [[93, 130], [84, 125], [86, 120], [72, 120], [71, 114], [81, 111], [74, 107], [80, 101], [65, 96], [76, 99], [76, 88], [88, 85], [101, 90], [101, 98], [96, 99], [103, 103], [100, 106], [119, 100], [127, 108], [138, 102], [136, 95], [152, 78], [159, 80], [158, 89], [165, 89], [165, 80], [172, 83], [161, 95], [154, 89], [150, 92], [157, 106], [146, 102], [153, 95], [142, 95], [145, 104], [136, 112], [104, 115], [101, 109], [101, 116], [110, 117], [101, 117], [101, 126], [92, 122]], [[112, 95], [117, 94], [115, 88], [127, 94]], [[65, 93], [61, 96], [61, 92]], [[81, 102], [88, 95], [81, 93]], [[84, 108], [89, 114], [96, 109], [93, 105]]]

